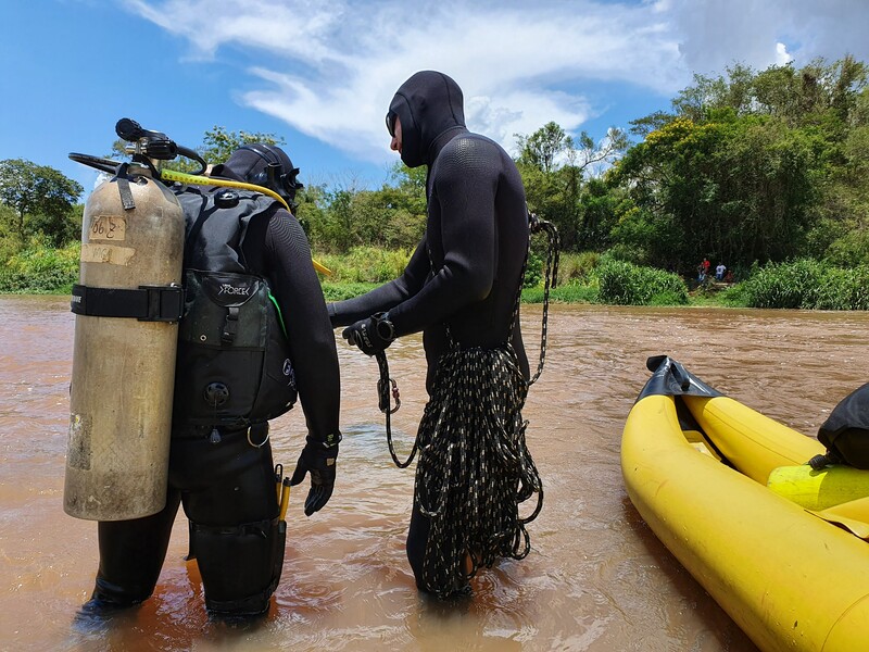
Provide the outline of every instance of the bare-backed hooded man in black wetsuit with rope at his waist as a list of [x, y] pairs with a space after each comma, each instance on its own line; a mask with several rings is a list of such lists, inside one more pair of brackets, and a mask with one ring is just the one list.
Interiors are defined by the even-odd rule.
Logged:
[[[439, 403], [439, 392], [450, 391], [442, 387], [448, 380], [438, 376], [445, 354], [504, 350], [513, 373], [505, 376], [505, 383], [515, 390], [517, 404], [502, 421], [509, 427], [520, 423], [529, 368], [517, 301], [528, 248], [528, 214], [516, 165], [498, 143], [466, 128], [462, 90], [446, 75], [425, 71], [407, 79], [392, 99], [387, 127], [391, 149], [400, 152], [408, 167], [428, 166], [426, 233], [400, 278], [362, 297], [329, 304], [329, 315], [333, 326], [349, 326], [343, 337], [369, 355], [389, 347], [395, 337], [424, 334], [430, 401], [420, 423], [407, 555], [417, 586], [448, 597], [467, 591], [467, 573], [461, 568], [468, 553], [479, 553], [473, 550], [479, 542], [466, 541], [467, 548], [457, 551], [461, 559], [446, 561], [452, 565], [446, 579], [432, 579], [436, 573], [426, 570], [426, 560], [442, 556], [441, 551], [431, 550], [432, 522], [419, 496], [426, 437], [430, 435], [427, 428], [433, 428], [428, 422], [434, 419], [428, 410]], [[448, 416], [459, 426], [463, 418], [469, 418], [455, 410]], [[437, 438], [437, 432], [433, 436]], [[445, 469], [431, 473], [445, 474]], [[457, 523], [446, 526], [463, 527]], [[492, 559], [483, 562], [475, 562], [474, 569], [491, 565]]]

